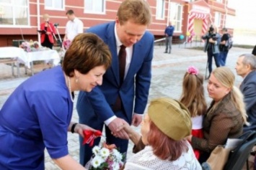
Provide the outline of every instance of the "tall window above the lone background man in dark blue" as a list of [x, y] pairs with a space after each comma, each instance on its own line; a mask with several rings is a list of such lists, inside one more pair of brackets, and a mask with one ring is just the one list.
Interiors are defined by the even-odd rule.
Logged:
[[175, 2], [170, 3], [169, 20], [175, 26], [175, 32], [181, 32], [182, 27], [182, 6]]

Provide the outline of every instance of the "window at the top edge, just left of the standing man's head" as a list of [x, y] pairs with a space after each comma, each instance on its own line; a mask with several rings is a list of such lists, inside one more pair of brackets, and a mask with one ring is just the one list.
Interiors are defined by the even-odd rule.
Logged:
[[105, 0], [84, 0], [84, 13], [105, 14]]

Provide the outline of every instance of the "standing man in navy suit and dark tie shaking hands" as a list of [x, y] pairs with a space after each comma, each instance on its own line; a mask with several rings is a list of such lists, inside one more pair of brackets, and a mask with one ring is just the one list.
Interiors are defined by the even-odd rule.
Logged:
[[[102, 131], [105, 124], [107, 143], [115, 143], [120, 152], [128, 148], [128, 134], [116, 131], [123, 123], [138, 126], [146, 108], [151, 82], [154, 36], [146, 31], [151, 23], [150, 6], [144, 0], [125, 0], [118, 9], [115, 22], [91, 27], [108, 44], [112, 65], [103, 76], [103, 83], [91, 93], [80, 92], [76, 109], [79, 122]], [[125, 70], [120, 77], [120, 46], [125, 46]], [[123, 62], [122, 62], [123, 63]], [[97, 75], [95, 75], [97, 76]], [[118, 138], [112, 136], [117, 134]], [[94, 141], [98, 145], [100, 138]], [[80, 138], [81, 145], [81, 138]], [[92, 156], [92, 147], [80, 146], [80, 164]]]

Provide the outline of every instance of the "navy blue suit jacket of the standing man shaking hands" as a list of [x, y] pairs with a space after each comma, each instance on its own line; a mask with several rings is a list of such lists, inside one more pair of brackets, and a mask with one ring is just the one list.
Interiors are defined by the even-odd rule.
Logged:
[[[144, 113], [148, 101], [154, 37], [146, 31], [141, 40], [133, 45], [131, 65], [123, 84], [120, 85], [115, 22], [100, 24], [88, 29], [87, 32], [97, 34], [108, 45], [112, 54], [112, 65], [103, 76], [101, 86], [94, 88], [90, 93], [80, 92], [86, 95], [79, 94], [77, 109], [82, 110], [81, 107], [87, 108], [91, 104], [94, 113], [97, 115], [97, 121], [106, 121], [114, 115], [112, 106], [115, 104], [119, 93], [125, 113], [118, 117], [126, 117], [125, 119], [131, 123], [133, 112]], [[84, 100], [85, 96], [87, 96], [87, 100]], [[84, 114], [86, 116], [88, 113]], [[79, 116], [81, 116], [81, 113], [79, 113]]]

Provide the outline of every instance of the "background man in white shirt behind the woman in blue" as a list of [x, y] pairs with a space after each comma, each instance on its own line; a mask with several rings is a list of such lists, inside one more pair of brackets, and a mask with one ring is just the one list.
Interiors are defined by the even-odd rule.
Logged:
[[63, 41], [69, 40], [72, 42], [77, 34], [83, 33], [84, 23], [81, 22], [80, 19], [76, 18], [74, 11], [71, 9], [66, 12], [66, 16], [68, 17], [69, 22], [66, 23], [66, 32]]

